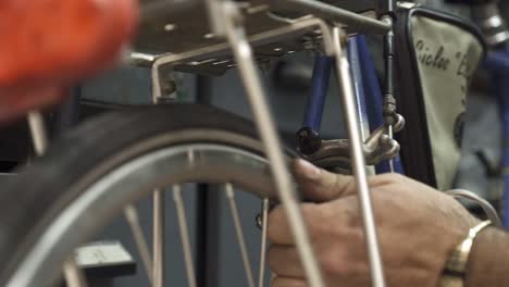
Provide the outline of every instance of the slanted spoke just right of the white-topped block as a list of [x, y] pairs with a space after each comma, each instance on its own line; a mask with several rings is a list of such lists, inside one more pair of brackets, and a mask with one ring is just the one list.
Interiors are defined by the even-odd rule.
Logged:
[[152, 284], [152, 262], [150, 251], [148, 249], [147, 240], [145, 239], [144, 232], [141, 229], [141, 225], [139, 224], [139, 216], [136, 208], [134, 205], [127, 205], [124, 209], [124, 216], [129, 224], [131, 232], [133, 233], [133, 237], [135, 239], [136, 246], [138, 248], [139, 255], [141, 257], [141, 261], [144, 262], [145, 271], [147, 272], [147, 277], [149, 282]]

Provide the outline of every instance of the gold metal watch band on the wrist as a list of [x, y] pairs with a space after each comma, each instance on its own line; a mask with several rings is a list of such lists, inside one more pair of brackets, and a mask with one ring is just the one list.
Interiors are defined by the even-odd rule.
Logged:
[[463, 287], [467, 263], [469, 261], [470, 251], [472, 250], [473, 241], [477, 234], [489, 226], [492, 221], [485, 221], [470, 228], [467, 238], [456, 246], [449, 260], [447, 260], [444, 274], [442, 275], [439, 287]]

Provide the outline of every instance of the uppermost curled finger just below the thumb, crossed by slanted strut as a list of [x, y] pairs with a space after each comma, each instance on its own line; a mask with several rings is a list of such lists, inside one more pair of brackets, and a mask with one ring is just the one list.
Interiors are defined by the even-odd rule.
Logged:
[[[320, 210], [314, 203], [303, 203], [300, 209], [308, 230], [313, 234], [315, 225], [321, 224], [319, 220]], [[276, 207], [269, 213], [266, 237], [275, 245], [294, 245], [294, 236], [283, 205]]]

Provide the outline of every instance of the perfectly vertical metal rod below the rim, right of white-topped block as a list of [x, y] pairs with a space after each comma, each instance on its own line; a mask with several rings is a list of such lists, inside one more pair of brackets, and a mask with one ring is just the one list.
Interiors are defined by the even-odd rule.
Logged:
[[164, 286], [164, 192], [153, 191], [153, 275], [152, 286]]

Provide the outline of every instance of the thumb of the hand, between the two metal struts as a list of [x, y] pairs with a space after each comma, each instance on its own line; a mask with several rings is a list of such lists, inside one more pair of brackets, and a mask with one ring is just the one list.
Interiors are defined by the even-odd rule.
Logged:
[[324, 202], [356, 194], [352, 176], [330, 173], [308, 161], [296, 160], [294, 173], [307, 200]]

